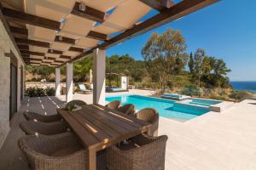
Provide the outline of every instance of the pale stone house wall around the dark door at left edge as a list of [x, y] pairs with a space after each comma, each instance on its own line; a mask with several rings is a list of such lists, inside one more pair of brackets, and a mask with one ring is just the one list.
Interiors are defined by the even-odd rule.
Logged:
[[19, 111], [20, 66], [22, 65], [24, 68], [24, 63], [9, 38], [9, 34], [5, 30], [3, 22], [0, 20], [0, 148], [9, 133], [10, 58], [4, 56], [4, 53], [10, 53], [10, 51], [15, 54], [17, 59], [17, 110]]

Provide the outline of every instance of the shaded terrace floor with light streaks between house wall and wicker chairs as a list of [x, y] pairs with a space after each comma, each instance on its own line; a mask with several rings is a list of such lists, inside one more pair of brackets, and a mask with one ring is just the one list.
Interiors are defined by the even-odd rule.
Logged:
[[35, 111], [43, 115], [56, 114], [57, 108], [62, 108], [64, 101], [54, 96], [36, 97], [23, 99], [20, 110], [15, 114], [9, 130], [9, 134], [5, 139], [0, 150], [0, 169], [2, 170], [28, 170], [26, 157], [21, 153], [17, 141], [24, 136], [20, 130], [20, 122], [26, 121], [22, 113], [24, 111]]

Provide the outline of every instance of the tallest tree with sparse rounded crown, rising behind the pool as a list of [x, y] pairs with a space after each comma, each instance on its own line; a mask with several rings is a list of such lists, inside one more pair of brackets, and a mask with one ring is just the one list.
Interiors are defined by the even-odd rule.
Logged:
[[168, 28], [164, 33], [153, 33], [143, 47], [142, 54], [148, 72], [157, 73], [164, 93], [171, 75], [183, 70], [187, 62], [186, 43], [179, 31]]

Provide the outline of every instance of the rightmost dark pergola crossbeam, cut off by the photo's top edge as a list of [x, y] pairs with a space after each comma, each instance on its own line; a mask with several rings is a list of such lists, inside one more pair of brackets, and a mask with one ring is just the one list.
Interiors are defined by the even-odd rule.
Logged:
[[145, 3], [149, 7], [154, 8], [158, 11], [163, 11], [166, 8], [170, 8], [172, 7], [172, 5], [174, 5], [172, 0], [139, 0], [139, 1], [142, 3]]

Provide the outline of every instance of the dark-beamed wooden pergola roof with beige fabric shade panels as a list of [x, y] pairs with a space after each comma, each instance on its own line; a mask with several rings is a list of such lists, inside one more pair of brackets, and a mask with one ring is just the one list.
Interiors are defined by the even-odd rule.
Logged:
[[217, 1], [2, 0], [0, 16], [27, 65], [61, 67]]

